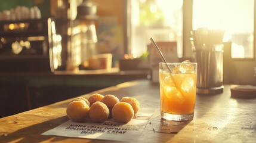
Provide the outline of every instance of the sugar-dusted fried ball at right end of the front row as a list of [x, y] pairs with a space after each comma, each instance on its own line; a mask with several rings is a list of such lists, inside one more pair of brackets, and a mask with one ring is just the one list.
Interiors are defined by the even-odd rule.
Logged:
[[112, 117], [116, 122], [128, 123], [133, 116], [134, 110], [127, 102], [119, 102], [112, 108]]

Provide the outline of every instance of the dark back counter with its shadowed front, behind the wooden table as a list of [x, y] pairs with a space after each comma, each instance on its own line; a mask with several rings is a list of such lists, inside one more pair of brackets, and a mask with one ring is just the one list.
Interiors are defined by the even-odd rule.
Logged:
[[[136, 79], [150, 70], [0, 71], [0, 118]], [[10, 102], [15, 98], [16, 102]]]

